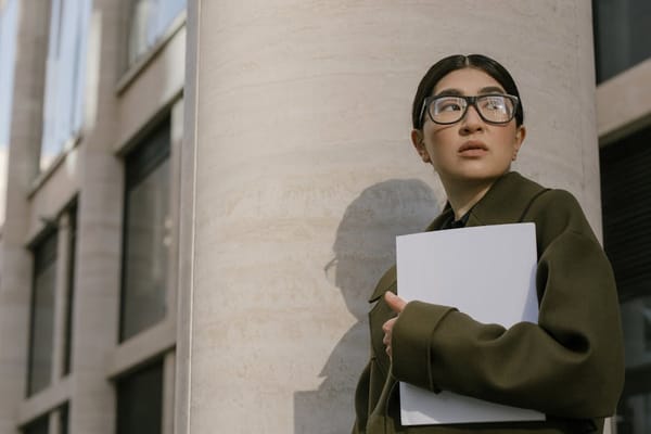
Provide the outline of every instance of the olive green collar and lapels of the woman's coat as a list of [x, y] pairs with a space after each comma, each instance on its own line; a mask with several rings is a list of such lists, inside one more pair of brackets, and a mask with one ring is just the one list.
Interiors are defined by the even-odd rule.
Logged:
[[[510, 171], [499, 178], [490, 190], [477, 202], [470, 212], [467, 227], [502, 225], [521, 221], [529, 204], [547, 189], [526, 179], [516, 171]], [[452, 213], [449, 202], [443, 213], [427, 226], [425, 231], [441, 229]], [[396, 266], [391, 267], [378, 282], [369, 303], [376, 302], [386, 291], [396, 292]]]

